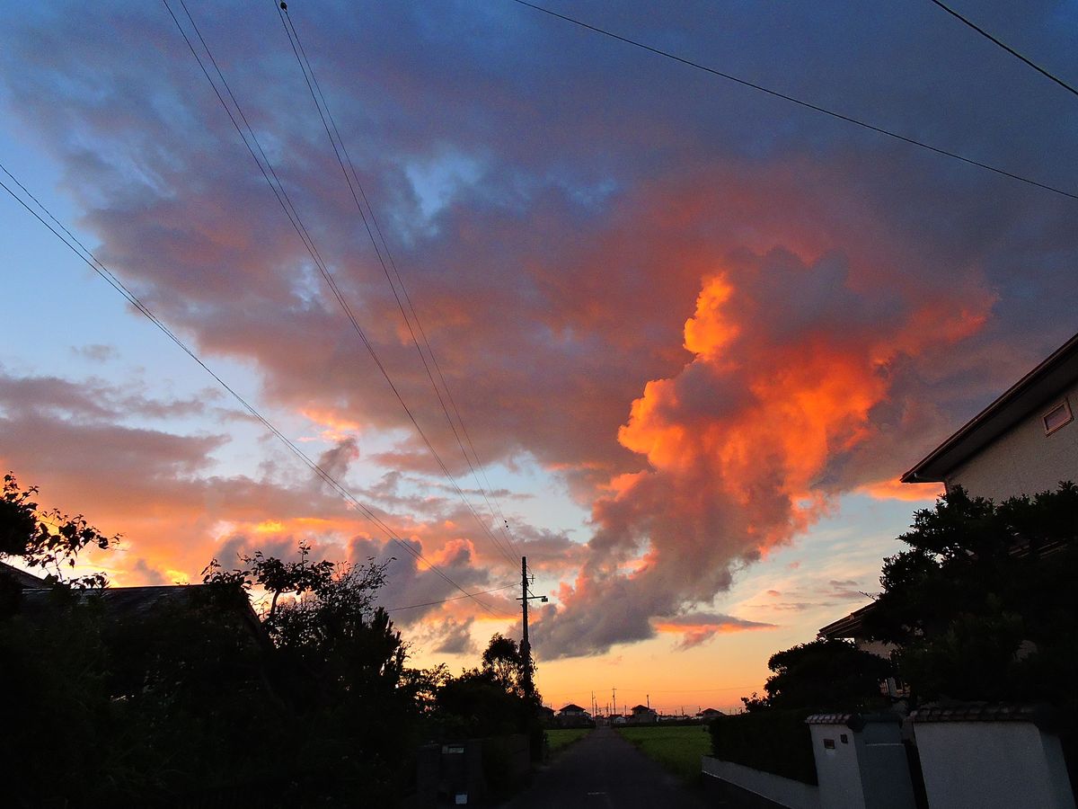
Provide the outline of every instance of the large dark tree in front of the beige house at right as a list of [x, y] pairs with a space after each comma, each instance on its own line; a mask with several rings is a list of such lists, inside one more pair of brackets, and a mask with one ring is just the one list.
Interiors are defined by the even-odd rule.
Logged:
[[918, 699], [1073, 702], [1078, 488], [995, 504], [955, 488], [884, 561], [870, 633]]

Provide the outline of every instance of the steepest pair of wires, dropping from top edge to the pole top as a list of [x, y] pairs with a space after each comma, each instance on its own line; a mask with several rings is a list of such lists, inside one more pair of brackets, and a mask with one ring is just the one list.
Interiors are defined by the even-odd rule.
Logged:
[[[404, 279], [401, 277], [400, 271], [397, 268], [397, 262], [395, 261], [392, 252], [389, 249], [389, 243], [387, 242], [385, 234], [382, 232], [382, 227], [378, 224], [377, 217], [374, 214], [374, 206], [371, 205], [371, 202], [367, 196], [367, 191], [363, 189], [363, 183], [360, 181], [359, 174], [356, 172], [356, 166], [351, 160], [351, 155], [348, 153], [348, 148], [344, 142], [344, 138], [341, 137], [341, 131], [337, 127], [336, 119], [333, 115], [333, 111], [330, 109], [329, 101], [326, 99], [326, 94], [322, 93], [322, 88], [318, 82], [318, 78], [315, 76], [314, 66], [310, 64], [310, 59], [307, 56], [307, 51], [304, 47], [303, 42], [300, 40], [300, 33], [295, 29], [295, 24], [292, 22], [292, 17], [288, 12], [287, 4], [277, 2], [276, 0], [273, 0], [273, 3], [277, 12], [278, 18], [280, 19], [281, 27], [285, 29], [285, 33], [288, 37], [289, 44], [292, 47], [292, 53], [295, 55], [296, 63], [300, 66], [301, 72], [303, 73], [303, 78], [307, 84], [307, 90], [310, 93], [312, 100], [314, 100], [315, 108], [318, 110], [319, 118], [321, 119], [322, 122], [322, 127], [326, 129], [326, 135], [327, 137], [329, 137], [330, 146], [332, 146], [333, 153], [336, 156], [337, 164], [341, 167], [341, 173], [344, 175], [345, 182], [348, 184], [348, 190], [351, 193], [353, 202], [355, 202], [356, 204], [356, 209], [359, 211], [359, 216], [363, 222], [367, 235], [371, 239], [371, 245], [374, 247], [375, 256], [378, 259], [378, 263], [382, 265], [382, 271], [386, 276], [386, 280], [389, 283], [389, 288], [392, 290], [393, 299], [397, 301], [397, 307], [400, 310], [401, 317], [403, 318], [404, 325], [407, 328], [410, 337], [412, 338], [412, 343], [415, 345], [416, 352], [419, 355], [419, 360], [423, 364], [424, 370], [426, 371], [427, 379], [430, 380], [430, 385], [434, 390], [434, 396], [438, 399], [438, 403], [441, 407], [442, 412], [445, 414], [445, 421], [450, 425], [450, 429], [453, 433], [453, 437], [456, 439], [457, 445], [460, 448], [460, 454], [464, 456], [465, 463], [468, 465], [468, 468], [471, 470], [472, 477], [475, 479], [475, 483], [479, 486], [483, 499], [486, 502], [486, 506], [490, 511], [490, 517], [492, 519], [497, 520], [497, 518], [495, 517], [495, 508], [490, 504], [490, 496], [495, 497], [495, 502], [497, 502], [497, 497], [494, 495], [493, 491], [490, 496], [488, 496], [486, 492], [486, 489], [492, 489], [490, 481], [488, 478], [486, 478], [485, 470], [483, 472], [483, 477], [486, 480], [486, 489], [484, 489], [483, 483], [479, 479], [479, 474], [476, 472], [475, 469], [475, 465], [479, 465], [480, 468], [482, 469], [482, 464], [480, 463], [479, 454], [475, 452], [475, 447], [472, 443], [471, 436], [468, 435], [468, 429], [465, 426], [464, 419], [460, 415], [460, 411], [457, 408], [456, 402], [453, 400], [453, 395], [450, 392], [448, 383], [446, 382], [445, 376], [442, 373], [441, 367], [438, 365], [438, 358], [436, 357], [433, 347], [430, 345], [430, 341], [427, 338], [426, 330], [423, 328], [423, 324], [419, 320], [419, 315], [416, 312], [414, 304], [412, 303], [412, 298], [407, 292], [407, 288], [404, 286]], [[345, 165], [346, 163], [347, 166]], [[357, 194], [357, 189], [359, 191], [358, 194]], [[362, 204], [360, 203], [360, 197], [362, 197]], [[365, 211], [363, 207], [364, 205], [367, 206]], [[374, 225], [373, 231], [371, 228], [372, 223]], [[375, 237], [375, 234], [377, 234], [377, 238]], [[381, 247], [378, 245], [379, 241], [382, 243]], [[392, 274], [390, 274], [390, 268], [392, 269]], [[396, 277], [396, 283], [395, 283], [395, 277]], [[397, 289], [398, 287], [400, 287], [400, 292], [398, 292]], [[407, 304], [407, 310], [405, 310], [405, 302]], [[411, 312], [411, 317], [409, 316], [409, 312]], [[413, 327], [413, 321], [415, 323], [414, 327]], [[430, 355], [430, 360], [431, 360], [430, 362], [427, 361], [427, 357], [423, 352], [423, 347], [419, 345], [419, 338], [416, 335], [417, 330], [423, 338], [423, 343], [427, 348], [427, 354]], [[431, 372], [431, 365], [433, 365], [436, 370], [438, 371], [439, 379], [442, 382], [442, 387], [445, 389], [444, 398], [442, 396], [441, 389], [438, 386], [438, 383], [434, 381], [433, 373]], [[450, 400], [451, 404], [453, 406], [453, 410], [456, 413], [457, 422], [459, 422], [460, 424], [459, 431], [457, 430], [457, 426], [453, 421], [453, 416], [450, 414], [448, 408], [446, 407], [445, 403], [446, 399]], [[460, 438], [460, 433], [465, 434], [465, 437], [468, 440], [468, 444], [469, 447], [471, 447], [472, 454], [475, 456], [475, 465], [472, 464], [472, 460], [468, 455], [468, 451], [465, 449], [464, 441]], [[508, 541], [508, 545], [513, 551], [517, 551], [517, 549], [514, 547], [513, 537], [509, 532], [508, 527], [509, 523], [508, 520], [506, 520], [505, 518], [505, 513], [501, 511], [500, 504], [498, 504], [497, 510], [498, 515], [501, 518], [501, 522], [499, 524], [503, 526], [502, 533], [506, 534], [506, 539]], [[476, 519], [479, 519], [478, 516]], [[490, 532], [488, 531], [487, 533], [489, 534]], [[499, 544], [494, 536], [492, 536], [490, 538], [492, 541], [495, 543], [495, 545]], [[499, 550], [502, 549], [499, 548]], [[502, 552], [506, 553], [505, 550], [502, 550]], [[507, 556], [507, 558], [515, 564], [515, 560], [513, 559], [512, 556]]]

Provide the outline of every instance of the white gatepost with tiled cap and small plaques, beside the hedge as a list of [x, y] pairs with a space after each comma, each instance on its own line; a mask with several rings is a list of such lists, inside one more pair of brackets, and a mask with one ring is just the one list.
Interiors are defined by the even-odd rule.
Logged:
[[816, 714], [812, 731], [819, 804], [828, 809], [916, 809], [897, 714]]

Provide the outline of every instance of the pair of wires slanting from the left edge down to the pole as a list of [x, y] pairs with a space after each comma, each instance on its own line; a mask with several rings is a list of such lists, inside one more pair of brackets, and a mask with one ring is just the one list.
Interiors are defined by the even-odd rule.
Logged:
[[[8, 192], [15, 202], [22, 205], [34, 219], [41, 222], [45, 228], [47, 228], [54, 236], [60, 239], [72, 252], [75, 253], [83, 262], [85, 262], [95, 273], [97, 273], [105, 282], [111, 286], [116, 292], [119, 292], [123, 298], [135, 308], [137, 308], [150, 323], [157, 327], [169, 340], [171, 340], [184, 354], [186, 354], [191, 359], [198, 364], [198, 366], [206, 371], [213, 380], [224, 388], [232, 397], [239, 402], [240, 407], [246, 410], [255, 421], [262, 424], [274, 437], [276, 437], [281, 443], [284, 443], [293, 455], [295, 455], [301, 462], [303, 462], [312, 471], [314, 471], [319, 478], [322, 479], [331, 489], [333, 489], [337, 494], [340, 494], [346, 502], [354, 505], [360, 513], [363, 515], [368, 520], [373, 522], [385, 535], [396, 543], [398, 546], [407, 551], [412, 557], [416, 559], [417, 562], [423, 562], [427, 565], [427, 568], [438, 575], [446, 584], [453, 586], [459, 590], [464, 595], [461, 598], [472, 599], [476, 604], [483, 607], [486, 612], [492, 615], [505, 618], [512, 618], [513, 616], [502, 613], [500, 611], [495, 611], [486, 602], [481, 599], [475, 598], [474, 593], [468, 592], [464, 587], [458, 585], [444, 571], [442, 571], [438, 565], [428, 560], [420, 551], [413, 548], [409, 543], [398, 536], [398, 534], [389, 527], [373, 510], [371, 510], [365, 504], [363, 504], [359, 498], [357, 498], [350, 491], [348, 491], [340, 481], [337, 481], [332, 475], [326, 471], [317, 462], [313, 461], [306, 453], [301, 450], [294, 441], [292, 441], [288, 436], [280, 431], [272, 422], [270, 422], [266, 416], [264, 416], [259, 410], [257, 410], [250, 402], [248, 402], [243, 396], [240, 396], [232, 386], [230, 386], [216, 371], [213, 371], [206, 362], [197, 355], [195, 352], [188, 346], [176, 333], [168, 328], [144, 303], [142, 303], [139, 298], [132, 292], [120, 278], [112, 273], [98, 258], [89, 250], [71, 231], [60, 222], [52, 211], [34, 196], [27, 188], [24, 186], [18, 178], [16, 178], [11, 172], [8, 170], [3, 163], [0, 163], [0, 172], [3, 172], [11, 181], [16, 184], [23, 193], [33, 201], [45, 216], [49, 217], [54, 223], [50, 224], [45, 219], [34, 210], [26, 200], [19, 196], [6, 182], [0, 179], [0, 188]], [[58, 229], [58, 230], [57, 230]], [[61, 232], [63, 231], [63, 234]], [[65, 235], [66, 234], [66, 235]]]

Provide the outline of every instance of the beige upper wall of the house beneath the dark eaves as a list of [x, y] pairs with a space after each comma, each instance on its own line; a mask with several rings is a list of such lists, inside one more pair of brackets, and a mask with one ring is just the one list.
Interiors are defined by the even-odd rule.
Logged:
[[[1041, 416], [1066, 399], [1076, 421], [1045, 435]], [[1015, 494], [1055, 489], [1078, 478], [1078, 384], [1014, 425], [982, 452], [954, 469], [948, 485], [999, 502]]]

